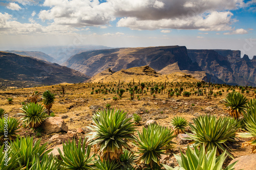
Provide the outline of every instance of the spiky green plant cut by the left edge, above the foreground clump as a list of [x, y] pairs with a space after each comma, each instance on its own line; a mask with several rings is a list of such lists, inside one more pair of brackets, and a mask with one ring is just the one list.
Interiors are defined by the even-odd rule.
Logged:
[[[20, 128], [19, 123], [19, 120], [16, 118], [0, 118], [0, 143], [4, 142], [4, 138], [8, 138], [9, 140], [14, 140], [16, 138], [18, 129]], [[7, 133], [6, 128], [8, 129]]]

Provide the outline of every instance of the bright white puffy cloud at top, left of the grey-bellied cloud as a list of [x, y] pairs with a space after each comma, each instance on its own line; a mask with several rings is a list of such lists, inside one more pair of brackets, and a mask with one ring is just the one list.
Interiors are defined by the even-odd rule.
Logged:
[[110, 3], [82, 0], [46, 0], [44, 6], [50, 10], [42, 10], [38, 14], [42, 21], [54, 20], [58, 25], [74, 27], [100, 26], [114, 20], [114, 9]]

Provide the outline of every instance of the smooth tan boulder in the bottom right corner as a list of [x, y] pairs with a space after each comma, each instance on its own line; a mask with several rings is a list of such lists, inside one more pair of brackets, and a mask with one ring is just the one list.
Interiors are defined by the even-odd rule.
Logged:
[[251, 155], [245, 155], [238, 157], [236, 159], [233, 159], [229, 164], [233, 162], [237, 162], [237, 164], [234, 166], [234, 170], [239, 170], [239, 169], [256, 169], [256, 154], [251, 154]]

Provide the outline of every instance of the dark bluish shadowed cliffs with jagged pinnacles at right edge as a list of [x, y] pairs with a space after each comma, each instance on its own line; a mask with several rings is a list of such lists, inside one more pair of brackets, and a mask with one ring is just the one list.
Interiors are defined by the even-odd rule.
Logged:
[[256, 85], [255, 62], [247, 55], [241, 58], [240, 51], [188, 50], [191, 60], [202, 70], [230, 84]]

